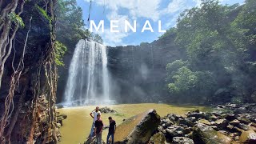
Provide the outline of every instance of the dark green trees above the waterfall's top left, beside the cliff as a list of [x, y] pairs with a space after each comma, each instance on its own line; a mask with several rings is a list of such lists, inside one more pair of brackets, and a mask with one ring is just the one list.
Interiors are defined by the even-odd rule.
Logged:
[[80, 39], [91, 38], [102, 43], [98, 34], [90, 33], [85, 29], [85, 22], [82, 19], [82, 8], [77, 6], [76, 0], [58, 0], [57, 8], [57, 30], [56, 37], [67, 47], [67, 54], [72, 54], [75, 45]]

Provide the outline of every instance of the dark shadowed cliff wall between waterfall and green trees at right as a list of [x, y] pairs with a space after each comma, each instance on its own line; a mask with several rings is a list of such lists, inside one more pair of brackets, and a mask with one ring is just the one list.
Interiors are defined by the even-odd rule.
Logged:
[[141, 46], [108, 47], [110, 97], [118, 102], [166, 100], [166, 64], [182, 58], [174, 35]]

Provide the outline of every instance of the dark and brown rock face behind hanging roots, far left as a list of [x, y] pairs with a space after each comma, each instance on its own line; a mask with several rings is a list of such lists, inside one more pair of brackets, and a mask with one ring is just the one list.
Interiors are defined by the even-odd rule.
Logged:
[[[56, 122], [54, 110], [56, 86], [53, 82], [56, 78], [52, 61], [54, 5], [54, 0], [26, 1], [24, 5], [21, 18], [25, 27], [19, 29], [15, 36], [14, 48], [6, 61], [2, 78], [0, 118], [6, 114], [7, 109], [9, 109], [9, 113], [7, 113], [9, 117], [0, 143], [57, 141], [58, 129], [54, 126], [54, 122]], [[40, 9], [44, 10], [46, 14], [42, 13]], [[27, 42], [26, 35], [28, 35]], [[14, 77], [18, 78], [18, 81], [13, 85], [14, 94], [12, 95], [10, 94], [12, 76], [22, 58], [24, 46], [26, 47], [22, 72], [20, 78]], [[13, 98], [10, 107], [6, 106], [6, 97]]]

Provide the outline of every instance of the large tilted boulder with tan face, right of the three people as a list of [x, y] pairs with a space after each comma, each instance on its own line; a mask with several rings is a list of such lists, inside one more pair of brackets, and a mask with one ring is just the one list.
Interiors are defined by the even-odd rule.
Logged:
[[148, 110], [132, 118], [126, 119], [116, 129], [116, 143], [146, 143], [160, 124], [160, 116], [156, 110]]

